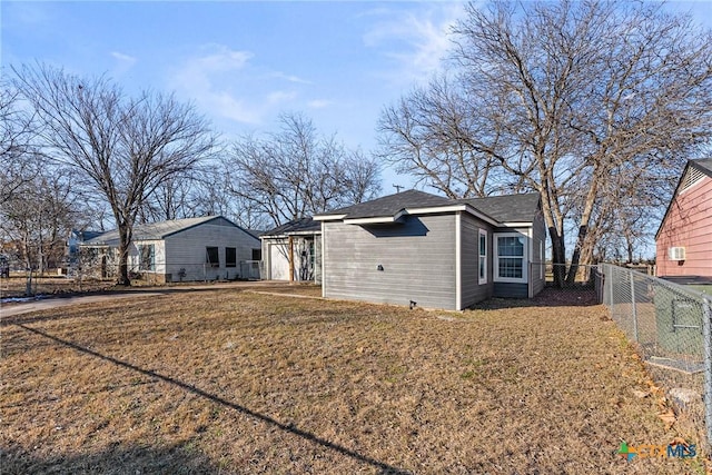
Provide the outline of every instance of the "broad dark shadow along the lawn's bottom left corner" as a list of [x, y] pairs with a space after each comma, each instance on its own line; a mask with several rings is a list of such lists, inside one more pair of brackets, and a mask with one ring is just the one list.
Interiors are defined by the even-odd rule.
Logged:
[[60, 454], [39, 458], [11, 445], [0, 447], [2, 474], [215, 474], [220, 469], [190, 446], [190, 442], [168, 447], [115, 445], [97, 453]]

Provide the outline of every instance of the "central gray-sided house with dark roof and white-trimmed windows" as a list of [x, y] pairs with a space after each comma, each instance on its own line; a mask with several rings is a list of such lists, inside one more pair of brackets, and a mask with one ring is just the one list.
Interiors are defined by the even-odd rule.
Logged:
[[453, 200], [409, 190], [314, 219], [324, 297], [461, 310], [544, 288], [538, 194]]

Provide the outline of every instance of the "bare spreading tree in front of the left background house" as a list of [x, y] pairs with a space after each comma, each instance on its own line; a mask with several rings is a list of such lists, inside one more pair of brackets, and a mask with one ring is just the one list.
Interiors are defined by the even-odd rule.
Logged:
[[128, 98], [110, 80], [83, 79], [48, 66], [13, 69], [14, 85], [43, 123], [55, 160], [78, 171], [77, 185], [100, 192], [119, 231], [118, 284], [130, 285], [128, 254], [134, 224], [166, 180], [208, 156], [215, 138], [191, 106], [172, 96]]

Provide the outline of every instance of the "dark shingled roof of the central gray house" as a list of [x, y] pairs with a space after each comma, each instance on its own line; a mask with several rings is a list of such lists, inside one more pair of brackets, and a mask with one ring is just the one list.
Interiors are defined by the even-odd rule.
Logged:
[[[407, 210], [423, 210], [427, 208], [469, 207], [485, 218], [504, 222], [531, 222], [538, 209], [538, 194], [506, 195], [486, 198], [448, 199], [425, 191], [408, 190], [395, 195], [384, 196], [372, 201], [335, 209], [315, 216], [316, 220], [366, 220], [392, 218], [397, 220]], [[385, 219], [384, 219], [385, 222]]]

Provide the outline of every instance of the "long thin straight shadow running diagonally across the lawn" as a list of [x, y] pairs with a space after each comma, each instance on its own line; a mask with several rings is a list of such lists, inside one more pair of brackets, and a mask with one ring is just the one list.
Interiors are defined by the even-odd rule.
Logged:
[[[136, 365], [131, 365], [130, 363], [126, 363], [126, 362], [122, 362], [120, 359], [112, 358], [111, 356], [102, 355], [102, 354], [93, 352], [93, 350], [91, 350], [89, 348], [85, 348], [83, 346], [80, 346], [80, 345], [77, 345], [75, 343], [58, 338], [58, 337], [56, 337], [53, 335], [47, 334], [47, 333], [44, 333], [42, 330], [39, 330], [37, 328], [31, 328], [31, 327], [28, 327], [28, 326], [21, 325], [21, 324], [17, 324], [17, 326], [20, 327], [20, 328], [23, 328], [27, 331], [33, 333], [36, 335], [40, 335], [40, 336], [42, 336], [44, 338], [51, 339], [52, 342], [56, 342], [56, 343], [59, 343], [61, 345], [68, 346], [68, 347], [72, 348], [72, 349], [76, 349], [78, 352], [81, 352], [81, 353], [85, 353], [87, 355], [91, 355], [91, 356], [95, 356], [97, 358], [103, 359], [105, 362], [109, 362], [109, 363], [112, 363], [112, 364], [115, 364], [117, 366], [121, 366], [121, 367], [131, 369], [134, 372], [140, 373], [142, 375], [149, 376], [151, 378], [157, 378], [157, 379], [164, 380], [166, 383], [172, 384], [175, 386], [178, 386], [181, 389], [187, 390], [188, 393], [192, 393], [192, 394], [195, 394], [197, 396], [200, 396], [200, 397], [204, 397], [204, 398], [206, 398], [206, 399], [208, 399], [208, 400], [210, 400], [212, 403], [222, 405], [222, 406], [228, 407], [230, 409], [237, 410], [238, 413], [245, 414], [245, 415], [247, 415], [249, 417], [254, 417], [254, 418], [256, 418], [258, 420], [261, 420], [264, 423], [273, 425], [273, 426], [275, 426], [275, 427], [277, 427], [277, 428], [279, 428], [281, 431], [285, 431], [285, 432], [288, 432], [288, 433], [290, 433], [293, 435], [296, 435], [298, 437], [305, 438], [305, 439], [312, 442], [315, 445], [319, 445], [322, 447], [328, 448], [328, 449], [334, 451], [334, 452], [336, 452], [338, 454], [342, 454], [344, 456], [350, 457], [350, 458], [353, 458], [353, 459], [355, 459], [357, 462], [360, 462], [363, 464], [370, 465], [370, 466], [373, 466], [375, 468], [378, 468], [378, 473], [379, 474], [409, 474], [411, 473], [408, 471], [404, 471], [404, 469], [390, 466], [390, 465], [388, 465], [388, 464], [386, 464], [384, 462], [380, 462], [380, 461], [377, 461], [375, 458], [368, 457], [366, 455], [359, 454], [358, 452], [352, 451], [352, 449], [346, 448], [344, 446], [340, 446], [338, 444], [334, 444], [334, 443], [332, 443], [329, 441], [326, 441], [326, 439], [324, 439], [322, 437], [318, 437], [318, 436], [316, 436], [316, 435], [314, 435], [314, 434], [312, 434], [312, 433], [309, 433], [307, 431], [303, 431], [303, 429], [300, 429], [298, 427], [295, 427], [291, 424], [280, 423], [279, 420], [274, 419], [274, 418], [271, 418], [271, 417], [269, 417], [269, 416], [267, 416], [265, 414], [260, 414], [258, 412], [251, 410], [251, 409], [249, 409], [249, 408], [247, 408], [245, 406], [240, 406], [239, 404], [233, 403], [231, 400], [224, 399], [224, 398], [218, 397], [218, 396], [216, 396], [214, 394], [210, 394], [210, 393], [207, 393], [207, 392], [205, 392], [202, 389], [199, 389], [199, 388], [197, 388], [195, 386], [191, 386], [189, 384], [182, 383], [182, 382], [180, 382], [178, 379], [174, 379], [174, 378], [171, 378], [169, 376], [165, 376], [165, 375], [161, 375], [159, 373], [151, 372], [149, 369], [140, 368], [140, 367], [138, 367]], [[4, 473], [4, 471], [3, 471], [3, 473]]]

